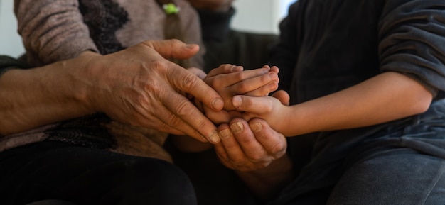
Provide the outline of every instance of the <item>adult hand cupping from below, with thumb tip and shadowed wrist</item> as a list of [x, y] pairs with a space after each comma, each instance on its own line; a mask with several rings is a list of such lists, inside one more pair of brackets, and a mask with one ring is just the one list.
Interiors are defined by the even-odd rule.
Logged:
[[[275, 92], [272, 97], [289, 105], [286, 92]], [[294, 172], [286, 155], [286, 138], [267, 121], [234, 118], [230, 123], [221, 124], [218, 131], [221, 141], [214, 147], [220, 162], [235, 170], [259, 199], [272, 199], [291, 182]]]

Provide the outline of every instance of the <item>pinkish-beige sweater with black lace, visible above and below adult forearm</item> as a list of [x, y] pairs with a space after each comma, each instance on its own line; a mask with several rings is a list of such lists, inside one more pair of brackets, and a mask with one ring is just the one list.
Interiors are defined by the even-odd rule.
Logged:
[[[185, 0], [175, 3], [180, 8], [178, 15], [185, 34], [182, 40], [202, 45], [197, 13]], [[155, 0], [16, 0], [14, 12], [29, 66], [0, 57], [0, 70], [47, 65], [76, 57], [85, 50], [108, 54], [143, 40], [164, 39], [165, 35], [166, 13]], [[202, 59], [203, 50], [191, 60], [191, 65], [203, 67]], [[162, 147], [166, 137], [167, 133], [124, 125], [96, 113], [2, 136], [0, 152], [53, 140], [171, 162]]]

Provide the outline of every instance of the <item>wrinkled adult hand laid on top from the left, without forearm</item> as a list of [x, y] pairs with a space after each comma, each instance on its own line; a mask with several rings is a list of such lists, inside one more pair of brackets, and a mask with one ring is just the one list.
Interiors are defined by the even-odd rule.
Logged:
[[179, 40], [145, 41], [110, 55], [95, 55], [84, 70], [90, 81], [90, 106], [116, 121], [190, 135], [211, 143], [220, 140], [216, 127], [184, 94], [215, 111], [223, 100], [198, 76], [166, 58], [186, 59], [198, 45]]

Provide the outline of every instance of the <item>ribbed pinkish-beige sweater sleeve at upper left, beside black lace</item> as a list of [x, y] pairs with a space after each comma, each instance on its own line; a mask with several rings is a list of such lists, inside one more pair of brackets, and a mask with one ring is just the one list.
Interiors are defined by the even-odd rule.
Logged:
[[77, 0], [15, 0], [14, 12], [33, 66], [70, 59], [85, 50], [97, 51]]

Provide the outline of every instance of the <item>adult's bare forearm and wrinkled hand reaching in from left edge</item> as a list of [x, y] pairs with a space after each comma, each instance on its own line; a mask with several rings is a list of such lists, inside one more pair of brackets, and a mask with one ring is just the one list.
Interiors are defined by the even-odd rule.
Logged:
[[[79, 57], [0, 78], [0, 133], [103, 112], [116, 121], [218, 143], [216, 127], [184, 94], [218, 111], [223, 99], [193, 72], [166, 58], [185, 59], [198, 45], [145, 41], [110, 55]], [[6, 120], [7, 119], [7, 120]]]

